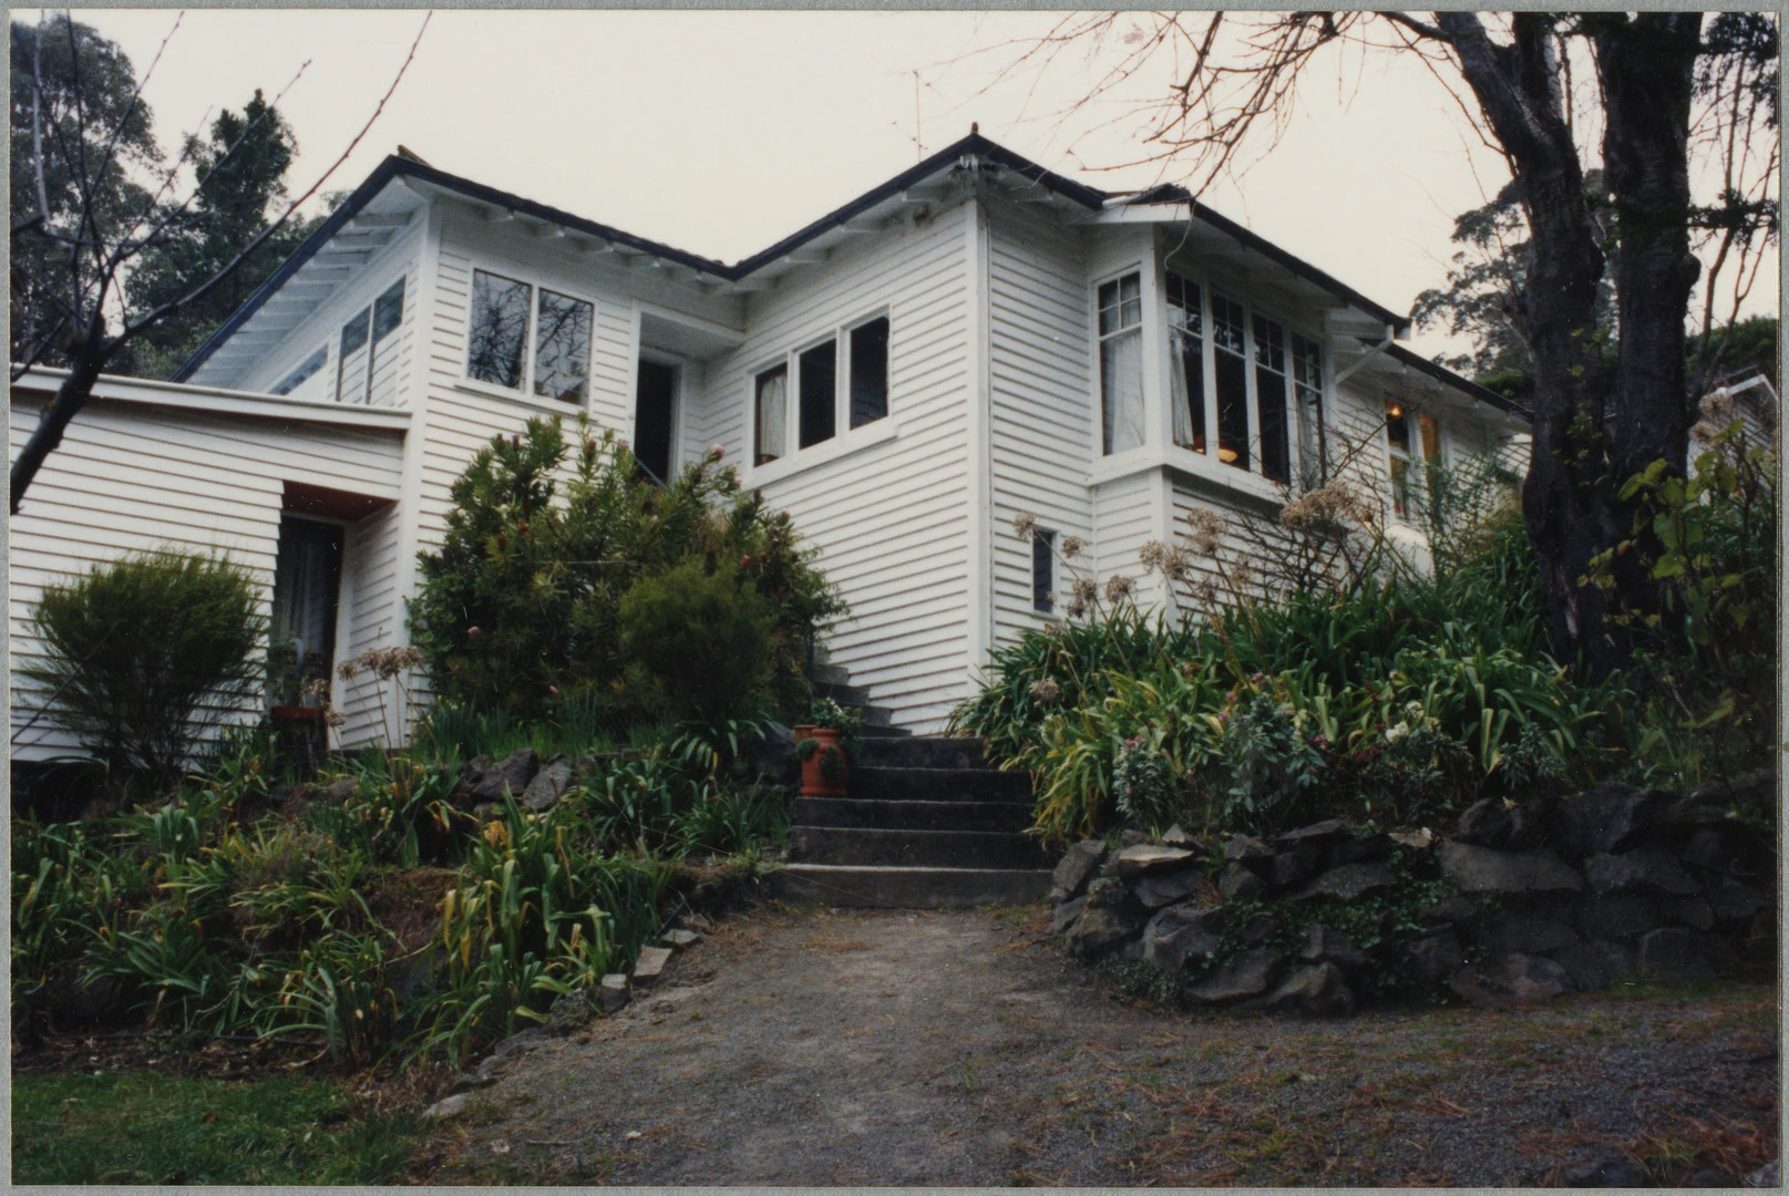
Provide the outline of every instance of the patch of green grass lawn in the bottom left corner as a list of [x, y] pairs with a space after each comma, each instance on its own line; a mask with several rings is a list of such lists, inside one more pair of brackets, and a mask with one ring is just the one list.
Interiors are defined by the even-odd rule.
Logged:
[[13, 1076], [14, 1183], [383, 1183], [422, 1135], [327, 1080]]

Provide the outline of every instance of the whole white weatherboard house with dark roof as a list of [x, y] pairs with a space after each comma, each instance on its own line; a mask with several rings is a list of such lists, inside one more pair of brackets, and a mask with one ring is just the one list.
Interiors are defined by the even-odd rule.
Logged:
[[[177, 383], [97, 386], [13, 520], [13, 660], [47, 579], [168, 543], [254, 569], [326, 661], [401, 644], [472, 454], [585, 411], [658, 476], [721, 445], [850, 602], [830, 660], [934, 731], [991, 647], [1061, 617], [1020, 511], [1140, 574], [1188, 511], [1270, 511], [1344, 440], [1392, 490], [1412, 454], [1526, 431], [1406, 327], [1184, 191], [975, 134], [737, 265], [388, 157]], [[57, 381], [14, 384], [14, 454]], [[14, 729], [41, 704], [18, 686]], [[372, 681], [335, 686], [340, 744], [377, 742]], [[14, 742], [72, 747], [45, 720]]]

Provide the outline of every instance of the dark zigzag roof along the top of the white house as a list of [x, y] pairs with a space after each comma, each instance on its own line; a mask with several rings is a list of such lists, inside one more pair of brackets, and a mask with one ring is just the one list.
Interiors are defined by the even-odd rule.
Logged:
[[855, 216], [868, 213], [869, 209], [884, 204], [889, 198], [900, 197], [903, 191], [918, 186], [920, 182], [930, 179], [932, 175], [943, 170], [950, 170], [957, 164], [968, 164], [971, 161], [993, 163], [1032, 182], [1034, 186], [1045, 188], [1050, 193], [1059, 195], [1077, 204], [1079, 207], [1088, 209], [1090, 213], [1097, 213], [1111, 206], [1184, 204], [1191, 218], [1200, 220], [1217, 229], [1218, 232], [1240, 241], [1247, 248], [1267, 256], [1268, 259], [1290, 270], [1293, 275], [1306, 279], [1311, 284], [1331, 293], [1333, 297], [1340, 299], [1344, 304], [1358, 307], [1374, 320], [1392, 325], [1399, 333], [1410, 327], [1408, 316], [1401, 316], [1386, 307], [1381, 307], [1379, 304], [1372, 302], [1354, 288], [1345, 286], [1344, 282], [1318, 270], [1308, 261], [1302, 261], [1288, 254], [1286, 250], [1274, 245], [1267, 238], [1251, 232], [1240, 223], [1229, 220], [1227, 216], [1222, 216], [1209, 206], [1195, 200], [1184, 188], [1168, 184], [1161, 188], [1152, 188], [1150, 191], [1140, 195], [1116, 195], [1111, 191], [1102, 191], [1098, 188], [1090, 188], [1081, 182], [1075, 182], [1073, 179], [1066, 179], [1059, 173], [1045, 170], [1038, 163], [1020, 154], [1014, 154], [1004, 145], [989, 141], [979, 132], [970, 132], [970, 136], [954, 141], [952, 145], [946, 145], [945, 148], [937, 150], [936, 154], [918, 163], [916, 166], [894, 175], [882, 186], [866, 191], [850, 204], [844, 204], [843, 207], [827, 213], [825, 216], [807, 225], [805, 229], [733, 265], [726, 265], [714, 257], [691, 254], [689, 250], [682, 250], [673, 245], [664, 245], [662, 241], [653, 241], [644, 236], [635, 236], [623, 229], [598, 223], [596, 220], [585, 220], [583, 216], [574, 216], [572, 213], [562, 211], [558, 207], [538, 204], [521, 195], [501, 191], [497, 188], [485, 186], [483, 182], [474, 182], [472, 179], [463, 179], [437, 166], [429, 166], [428, 163], [417, 159], [415, 156], [394, 154], [386, 157], [383, 163], [379, 163], [379, 166], [370, 175], [367, 175], [367, 181], [361, 182], [358, 188], [354, 188], [354, 191], [342, 202], [342, 206], [336, 207], [329, 215], [329, 218], [324, 220], [324, 223], [311, 236], [308, 236], [304, 243], [284, 263], [281, 263], [279, 270], [276, 270], [267, 279], [267, 282], [263, 282], [259, 290], [256, 290], [254, 295], [250, 295], [249, 300], [242, 307], [238, 307], [236, 313], [231, 315], [231, 318], [225, 320], [224, 325], [216, 333], [213, 333], [204, 345], [199, 347], [199, 350], [181, 366], [181, 370], [174, 375], [174, 379], [186, 381], [188, 377], [191, 377], [193, 372], [197, 372], [211, 358], [211, 354], [215, 354], [224, 345], [224, 341], [227, 341], [238, 329], [242, 329], [242, 325], [247, 324], [254, 316], [254, 313], [259, 311], [261, 306], [276, 291], [279, 291], [279, 288], [293, 274], [297, 274], [311, 257], [315, 257], [317, 252], [324, 245], [327, 245], [331, 238], [342, 232], [342, 229], [363, 207], [367, 207], [367, 204], [372, 202], [374, 197], [377, 197], [390, 182], [399, 179], [413, 179], [417, 182], [444, 191], [453, 191], [478, 204], [487, 204], [490, 207], [512, 211], [522, 216], [530, 216], [533, 220], [553, 223], [569, 232], [608, 241], [612, 245], [624, 247], [637, 254], [660, 257], [664, 261], [676, 263], [680, 266], [692, 270], [698, 277], [707, 277], [716, 282], [739, 282], [748, 275], [751, 275], [753, 272], [762, 270], [764, 266], [785, 257], [801, 245], [819, 236], [825, 236], [827, 232], [837, 227], [843, 227], [848, 220], [853, 220]]

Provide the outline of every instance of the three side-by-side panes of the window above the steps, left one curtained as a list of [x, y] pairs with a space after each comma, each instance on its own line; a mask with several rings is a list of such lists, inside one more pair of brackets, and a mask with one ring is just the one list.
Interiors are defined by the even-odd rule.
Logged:
[[[839, 356], [844, 361], [839, 361]], [[789, 404], [794, 400], [794, 445]], [[753, 465], [812, 449], [889, 413], [889, 318], [846, 325], [753, 375]]]

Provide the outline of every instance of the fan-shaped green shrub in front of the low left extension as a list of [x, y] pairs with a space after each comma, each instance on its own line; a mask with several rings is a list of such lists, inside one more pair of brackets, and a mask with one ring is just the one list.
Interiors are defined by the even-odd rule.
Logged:
[[259, 594], [227, 558], [143, 552], [48, 585], [32, 610], [43, 663], [20, 669], [48, 717], [109, 767], [168, 787], [206, 729], [263, 679]]

